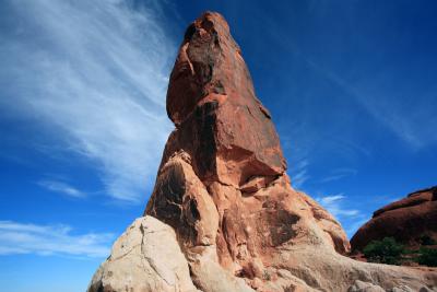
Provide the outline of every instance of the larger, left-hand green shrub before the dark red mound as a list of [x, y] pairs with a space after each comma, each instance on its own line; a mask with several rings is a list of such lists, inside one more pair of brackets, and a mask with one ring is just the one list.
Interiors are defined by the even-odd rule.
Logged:
[[363, 254], [368, 261], [389, 265], [400, 265], [404, 253], [404, 246], [397, 243], [393, 237], [385, 237], [382, 241], [371, 241], [363, 249]]

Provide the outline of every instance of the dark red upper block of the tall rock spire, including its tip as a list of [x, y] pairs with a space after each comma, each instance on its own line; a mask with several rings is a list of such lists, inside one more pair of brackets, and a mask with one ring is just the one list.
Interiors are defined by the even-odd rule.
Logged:
[[184, 150], [202, 182], [235, 187], [284, 173], [270, 114], [256, 97], [240, 49], [218, 14], [188, 27], [170, 75], [167, 113], [177, 129], [163, 162]]

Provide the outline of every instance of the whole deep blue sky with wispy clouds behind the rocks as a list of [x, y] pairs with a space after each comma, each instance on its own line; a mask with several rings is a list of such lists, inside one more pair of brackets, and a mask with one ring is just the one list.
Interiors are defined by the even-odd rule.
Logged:
[[347, 234], [437, 184], [435, 1], [0, 4], [0, 287], [84, 291], [151, 194], [188, 23], [227, 19], [292, 184]]

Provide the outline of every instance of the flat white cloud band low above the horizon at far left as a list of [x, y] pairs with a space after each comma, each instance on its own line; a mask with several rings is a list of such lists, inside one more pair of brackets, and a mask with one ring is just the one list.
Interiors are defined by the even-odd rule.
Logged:
[[106, 257], [113, 240], [114, 235], [109, 233], [73, 235], [72, 229], [67, 225], [0, 221], [0, 255]]

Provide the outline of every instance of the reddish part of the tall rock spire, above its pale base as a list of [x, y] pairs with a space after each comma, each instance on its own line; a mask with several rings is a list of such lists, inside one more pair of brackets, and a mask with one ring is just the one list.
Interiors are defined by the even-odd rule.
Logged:
[[214, 245], [223, 267], [262, 278], [270, 249], [305, 240], [308, 229], [299, 225], [310, 218], [323, 241], [349, 250], [340, 224], [291, 188], [271, 115], [220, 14], [205, 13], [188, 27], [167, 113], [176, 129], [145, 214], [175, 227], [184, 246]]

